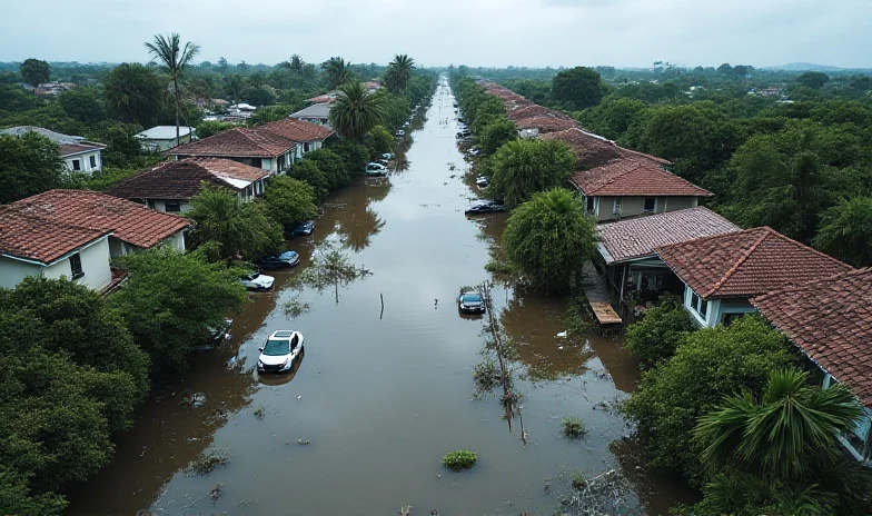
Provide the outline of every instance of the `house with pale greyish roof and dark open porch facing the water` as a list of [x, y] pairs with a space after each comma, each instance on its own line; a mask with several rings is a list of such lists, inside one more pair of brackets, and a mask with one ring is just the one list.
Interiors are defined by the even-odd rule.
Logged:
[[741, 231], [739, 226], [702, 206], [601, 224], [596, 226], [596, 261], [622, 302], [634, 295], [654, 300], [664, 291], [684, 289], [657, 257], [656, 248], [736, 231]]

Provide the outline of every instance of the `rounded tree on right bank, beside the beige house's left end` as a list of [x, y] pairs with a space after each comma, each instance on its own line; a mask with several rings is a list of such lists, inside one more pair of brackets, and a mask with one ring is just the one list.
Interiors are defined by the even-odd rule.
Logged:
[[565, 181], [575, 166], [575, 156], [555, 140], [514, 140], [492, 159], [494, 170], [488, 191], [515, 207], [537, 191]]

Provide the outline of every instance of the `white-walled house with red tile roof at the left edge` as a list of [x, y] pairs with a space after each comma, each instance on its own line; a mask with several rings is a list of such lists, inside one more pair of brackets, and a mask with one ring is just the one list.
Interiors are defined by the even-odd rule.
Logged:
[[188, 221], [87, 190], [49, 190], [0, 207], [0, 287], [66, 276], [98, 291], [118, 280], [111, 258], [158, 245], [185, 249]]

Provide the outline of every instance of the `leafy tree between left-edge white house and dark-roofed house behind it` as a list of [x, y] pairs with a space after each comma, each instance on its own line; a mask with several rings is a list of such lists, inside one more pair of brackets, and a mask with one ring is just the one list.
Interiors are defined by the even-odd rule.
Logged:
[[194, 222], [191, 242], [214, 242], [221, 259], [242, 256], [256, 260], [284, 244], [281, 227], [266, 216], [258, 202], [240, 204], [235, 195], [219, 187], [202, 188], [191, 199], [187, 215]]

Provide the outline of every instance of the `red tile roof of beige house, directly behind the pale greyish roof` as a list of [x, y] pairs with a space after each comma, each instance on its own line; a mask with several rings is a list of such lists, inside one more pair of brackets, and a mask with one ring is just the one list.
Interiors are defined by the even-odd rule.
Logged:
[[692, 196], [712, 192], [686, 181], [646, 159], [618, 159], [575, 172], [569, 179], [586, 196]]

